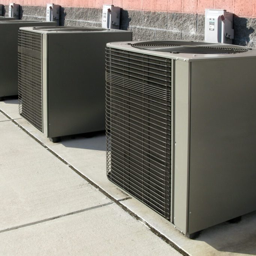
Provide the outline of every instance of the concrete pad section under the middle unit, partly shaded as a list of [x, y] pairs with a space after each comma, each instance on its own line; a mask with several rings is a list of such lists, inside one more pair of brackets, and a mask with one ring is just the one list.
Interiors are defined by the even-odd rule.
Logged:
[[92, 138], [84, 138], [81, 135], [63, 137], [61, 142], [52, 143], [24, 118], [15, 121], [115, 199], [129, 197], [106, 178], [105, 132]]

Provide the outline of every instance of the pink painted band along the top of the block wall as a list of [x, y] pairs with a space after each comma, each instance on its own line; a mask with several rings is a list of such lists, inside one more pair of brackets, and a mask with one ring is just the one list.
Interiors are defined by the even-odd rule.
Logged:
[[[2, 0], [8, 4], [9, 0]], [[114, 4], [123, 9], [160, 12], [204, 13], [204, 9], [226, 9], [237, 16], [256, 17], [256, 0], [56, 0], [63, 7], [102, 8], [103, 4]], [[16, 0], [21, 5], [46, 6], [49, 0]]]

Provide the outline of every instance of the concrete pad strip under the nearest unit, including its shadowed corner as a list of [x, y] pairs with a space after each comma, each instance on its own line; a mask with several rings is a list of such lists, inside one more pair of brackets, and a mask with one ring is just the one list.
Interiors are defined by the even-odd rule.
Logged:
[[191, 240], [139, 200], [132, 198], [121, 204], [189, 255], [256, 255], [256, 212], [244, 215], [239, 223], [225, 222], [205, 229], [198, 238]]

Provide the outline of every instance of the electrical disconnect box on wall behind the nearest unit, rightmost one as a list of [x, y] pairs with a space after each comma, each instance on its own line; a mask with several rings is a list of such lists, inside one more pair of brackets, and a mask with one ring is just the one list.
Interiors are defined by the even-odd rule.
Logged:
[[232, 43], [234, 39], [233, 13], [226, 10], [205, 9], [205, 41]]

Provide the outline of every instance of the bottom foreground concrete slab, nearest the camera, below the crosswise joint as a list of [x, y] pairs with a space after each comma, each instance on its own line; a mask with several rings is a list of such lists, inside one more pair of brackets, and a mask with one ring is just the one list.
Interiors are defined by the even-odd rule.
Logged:
[[180, 255], [116, 204], [0, 234], [0, 255]]

